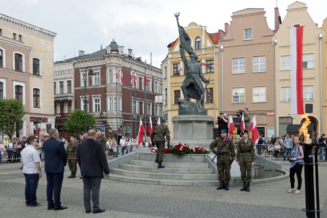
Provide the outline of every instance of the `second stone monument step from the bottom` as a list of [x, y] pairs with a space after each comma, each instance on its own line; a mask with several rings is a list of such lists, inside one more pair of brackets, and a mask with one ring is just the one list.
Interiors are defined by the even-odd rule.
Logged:
[[149, 172], [136, 172], [128, 171], [126, 169], [110, 169], [110, 174], [121, 176], [148, 178], [148, 179], [168, 179], [168, 180], [217, 180], [216, 174], [168, 174], [168, 173], [149, 173]]

